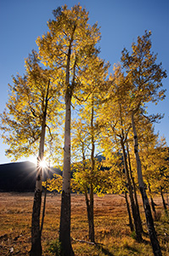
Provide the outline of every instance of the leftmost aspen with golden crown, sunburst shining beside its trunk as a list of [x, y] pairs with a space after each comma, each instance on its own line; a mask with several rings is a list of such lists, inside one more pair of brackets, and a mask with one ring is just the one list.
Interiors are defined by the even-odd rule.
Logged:
[[[42, 166], [45, 133], [51, 139], [54, 130], [50, 125], [53, 114], [57, 120], [56, 87], [50, 84], [50, 73], [42, 69], [37, 52], [25, 60], [24, 78], [14, 78], [14, 86], [9, 85], [7, 109], [1, 115], [3, 138], [8, 142], [8, 155], [14, 154], [15, 160], [22, 155], [36, 154], [37, 181], [31, 222], [31, 255], [42, 255], [40, 213], [42, 201]], [[51, 100], [54, 100], [52, 102]], [[46, 142], [47, 143], [47, 142]]]

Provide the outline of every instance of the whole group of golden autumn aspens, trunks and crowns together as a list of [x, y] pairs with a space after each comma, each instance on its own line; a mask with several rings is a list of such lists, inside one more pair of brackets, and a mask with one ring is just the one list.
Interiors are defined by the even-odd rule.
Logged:
[[[14, 84], [8, 85], [7, 107], [1, 114], [1, 136], [9, 146], [6, 154], [14, 160], [37, 154], [30, 255], [42, 255], [41, 163], [49, 157], [59, 166], [63, 158], [62, 178], [56, 176], [47, 184], [48, 189], [62, 190], [63, 255], [74, 255], [70, 242], [70, 189], [74, 188], [85, 195], [93, 242], [95, 193], [125, 195], [130, 228], [143, 241], [139, 189], [153, 252], [160, 256], [147, 188], [155, 212], [153, 192], [161, 193], [165, 205], [163, 194], [168, 191], [168, 149], [165, 138], [160, 140], [154, 131], [154, 122], [162, 115], [149, 115], [146, 104], [165, 98], [166, 71], [156, 63], [151, 32], [138, 37], [131, 52], [122, 50], [121, 62], [110, 74], [110, 63], [99, 57], [99, 26], [88, 23], [87, 10], [79, 4], [72, 9], [65, 5], [53, 14], [48, 32], [37, 38], [38, 51], [32, 50], [25, 60], [24, 76], [17, 74]], [[104, 171], [96, 159], [100, 152]], [[76, 172], [70, 179], [72, 161]]]

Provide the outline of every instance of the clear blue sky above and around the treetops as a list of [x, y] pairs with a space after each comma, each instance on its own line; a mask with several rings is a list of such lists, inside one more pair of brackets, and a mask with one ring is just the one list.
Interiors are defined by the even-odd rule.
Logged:
[[[131, 49], [133, 41], [145, 30], [152, 32], [153, 51], [158, 53], [158, 62], [169, 72], [169, 1], [168, 0], [1, 0], [0, 1], [0, 112], [8, 101], [8, 83], [12, 75], [25, 72], [25, 58], [31, 49], [37, 49], [36, 39], [47, 32], [47, 21], [53, 19], [52, 11], [67, 4], [80, 3], [89, 11], [90, 24], [98, 21], [101, 26], [101, 57], [114, 63], [120, 61], [121, 50]], [[111, 67], [111, 68], [112, 68]], [[161, 124], [155, 125], [166, 137], [169, 145], [169, 79], [163, 80], [166, 100], [151, 113], [165, 113]], [[12, 160], [5, 156], [7, 145], [0, 140], [0, 164]], [[24, 158], [20, 160], [25, 160]]]

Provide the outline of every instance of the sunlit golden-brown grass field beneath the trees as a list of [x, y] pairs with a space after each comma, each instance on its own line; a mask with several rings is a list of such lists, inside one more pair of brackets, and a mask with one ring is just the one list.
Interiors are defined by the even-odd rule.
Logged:
[[[60, 195], [48, 195], [45, 222], [42, 231], [43, 256], [49, 253], [51, 242], [59, 237]], [[139, 199], [140, 201], [140, 199]], [[0, 255], [27, 256], [31, 249], [31, 210], [33, 193], [0, 193]], [[155, 197], [159, 220], [155, 229], [163, 256], [169, 255], [169, 218], [166, 218], [161, 198]], [[140, 201], [141, 204], [141, 201]], [[71, 196], [71, 237], [76, 256], [153, 256], [149, 236], [138, 243], [128, 226], [125, 199], [119, 195], [94, 197], [94, 224], [96, 245], [89, 244], [87, 212], [83, 195]], [[140, 207], [147, 233], [143, 207]]]

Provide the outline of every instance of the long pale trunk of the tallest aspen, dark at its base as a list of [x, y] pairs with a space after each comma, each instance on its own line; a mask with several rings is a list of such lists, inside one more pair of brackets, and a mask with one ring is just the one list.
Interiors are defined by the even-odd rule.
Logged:
[[61, 212], [60, 212], [60, 224], [59, 224], [59, 241], [61, 242], [61, 250], [64, 256], [75, 255], [71, 247], [70, 241], [70, 124], [71, 124], [71, 96], [75, 82], [75, 67], [73, 79], [70, 84], [70, 55], [71, 44], [73, 42], [73, 35], [76, 30], [76, 26], [72, 32], [70, 39], [70, 46], [67, 54], [66, 65], [66, 91], [65, 91], [65, 145], [64, 145], [64, 168], [63, 168], [63, 183], [62, 183], [62, 195], [61, 195]]

